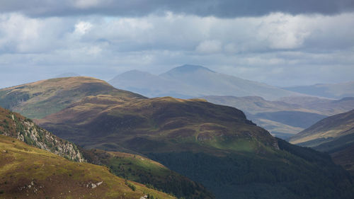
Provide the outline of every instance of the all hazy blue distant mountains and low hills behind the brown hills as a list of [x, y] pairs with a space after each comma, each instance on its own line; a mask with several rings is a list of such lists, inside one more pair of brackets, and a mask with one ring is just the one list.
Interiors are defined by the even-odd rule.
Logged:
[[288, 92], [189, 64], [159, 75], [133, 70], [108, 82], [116, 88], [148, 97], [205, 98], [212, 103], [233, 106], [244, 110], [249, 119], [282, 139], [288, 139], [323, 118], [354, 107], [354, 98], [333, 99], [354, 96], [351, 94], [354, 86], [350, 83], [330, 86], [331, 91], [343, 91], [345, 95], [319, 98], [316, 91]]

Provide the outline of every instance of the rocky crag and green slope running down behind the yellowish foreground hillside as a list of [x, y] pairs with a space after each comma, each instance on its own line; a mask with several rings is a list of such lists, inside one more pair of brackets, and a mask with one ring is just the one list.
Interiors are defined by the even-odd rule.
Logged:
[[79, 149], [75, 144], [38, 127], [32, 120], [4, 108], [0, 108], [0, 134], [17, 138], [33, 147], [59, 154], [66, 159], [81, 162], [87, 160], [93, 164], [106, 165], [117, 176], [150, 184], [151, 188], [155, 187], [164, 192], [173, 193], [179, 198], [214, 198], [200, 184], [146, 157], [96, 149], [91, 152]]

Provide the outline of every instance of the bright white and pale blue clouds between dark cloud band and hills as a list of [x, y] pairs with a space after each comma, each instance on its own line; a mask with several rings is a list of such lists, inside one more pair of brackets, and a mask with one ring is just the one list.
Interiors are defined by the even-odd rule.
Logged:
[[[128, 69], [159, 74], [188, 63], [268, 84], [348, 81], [354, 74], [353, 35], [354, 13], [247, 18], [6, 13], [0, 14], [0, 68], [36, 71], [38, 78], [70, 71], [110, 79]], [[0, 87], [6, 78], [0, 75]]]

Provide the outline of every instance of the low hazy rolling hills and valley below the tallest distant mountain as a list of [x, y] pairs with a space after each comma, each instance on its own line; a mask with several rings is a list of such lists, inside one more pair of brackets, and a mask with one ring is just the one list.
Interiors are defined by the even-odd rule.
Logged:
[[329, 100], [292, 96], [278, 101], [247, 96], [203, 96], [207, 101], [244, 110], [247, 118], [273, 135], [286, 139], [328, 116], [344, 113], [354, 107], [354, 98]]

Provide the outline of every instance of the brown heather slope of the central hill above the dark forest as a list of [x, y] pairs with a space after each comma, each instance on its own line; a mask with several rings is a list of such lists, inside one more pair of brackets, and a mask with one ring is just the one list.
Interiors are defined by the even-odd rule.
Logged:
[[276, 140], [246, 120], [241, 110], [198, 99], [119, 101], [108, 95], [89, 96], [37, 121], [56, 135], [86, 148], [118, 150], [123, 147], [146, 154], [277, 147]]

